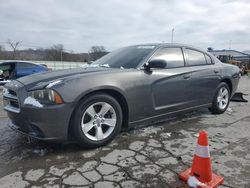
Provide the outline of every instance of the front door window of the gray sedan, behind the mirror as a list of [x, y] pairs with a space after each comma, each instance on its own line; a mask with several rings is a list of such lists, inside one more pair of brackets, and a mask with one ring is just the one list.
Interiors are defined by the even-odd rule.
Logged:
[[166, 68], [184, 67], [181, 48], [161, 48], [155, 52], [151, 60], [165, 60]]

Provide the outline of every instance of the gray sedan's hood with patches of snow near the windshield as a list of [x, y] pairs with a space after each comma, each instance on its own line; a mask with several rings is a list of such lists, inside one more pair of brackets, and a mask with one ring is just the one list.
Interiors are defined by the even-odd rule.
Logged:
[[87, 67], [87, 68], [77, 68], [77, 69], [67, 69], [67, 70], [57, 70], [49, 71], [38, 74], [33, 74], [30, 76], [25, 76], [17, 79], [18, 82], [22, 83], [27, 89], [35, 86], [45, 87], [51, 81], [65, 80], [70, 76], [83, 76], [86, 74], [94, 74], [104, 71], [111, 71], [111, 68], [104, 67]]

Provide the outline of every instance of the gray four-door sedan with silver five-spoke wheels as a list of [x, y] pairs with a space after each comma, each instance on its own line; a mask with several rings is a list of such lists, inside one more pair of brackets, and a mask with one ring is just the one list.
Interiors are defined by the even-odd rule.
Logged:
[[93, 64], [40, 73], [5, 85], [4, 109], [13, 129], [42, 140], [99, 147], [136, 125], [207, 107], [223, 113], [239, 69], [185, 45], [118, 49]]

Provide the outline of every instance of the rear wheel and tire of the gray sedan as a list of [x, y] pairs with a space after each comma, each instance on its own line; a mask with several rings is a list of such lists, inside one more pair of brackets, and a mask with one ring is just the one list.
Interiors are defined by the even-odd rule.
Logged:
[[221, 82], [215, 92], [212, 106], [209, 109], [213, 114], [224, 113], [230, 102], [231, 92], [228, 85], [225, 82]]

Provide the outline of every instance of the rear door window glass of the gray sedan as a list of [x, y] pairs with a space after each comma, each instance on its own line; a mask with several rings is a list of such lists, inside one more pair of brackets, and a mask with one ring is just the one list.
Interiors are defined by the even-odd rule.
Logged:
[[185, 49], [185, 55], [187, 57], [188, 66], [207, 64], [204, 53], [202, 52], [191, 50], [191, 49]]

